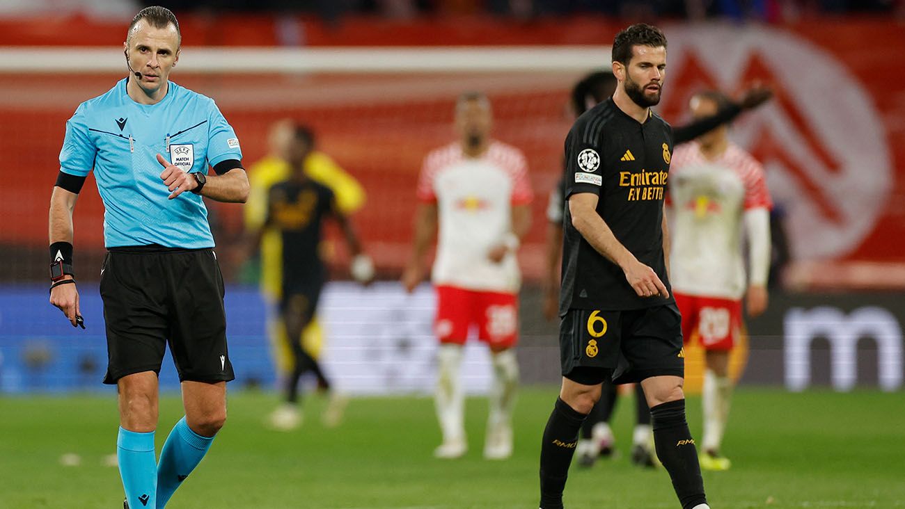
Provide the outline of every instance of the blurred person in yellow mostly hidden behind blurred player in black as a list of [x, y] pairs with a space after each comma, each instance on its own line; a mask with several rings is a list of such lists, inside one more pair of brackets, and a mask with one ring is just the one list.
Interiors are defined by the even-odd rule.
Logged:
[[[265, 156], [249, 168], [249, 182], [251, 192], [248, 203], [245, 204], [245, 230], [259, 231], [267, 215], [267, 194], [273, 184], [285, 181], [291, 174], [288, 162], [289, 150], [296, 136], [296, 124], [289, 118], [274, 122], [271, 126], [268, 143], [270, 154]], [[328, 186], [334, 193], [337, 207], [340, 212], [351, 216], [365, 204], [365, 190], [358, 184], [355, 177], [348, 174], [327, 154], [319, 151], [317, 146], [311, 146], [308, 156], [304, 159], [305, 173], [311, 180]], [[332, 246], [325, 240], [321, 248], [329, 257]], [[281, 299], [282, 282], [282, 235], [280, 231], [264, 231], [260, 257], [249, 260], [248, 266], [257, 271], [255, 262], [260, 262], [260, 284], [265, 300], [274, 307]], [[290, 376], [294, 356], [289, 342], [286, 340], [286, 327], [282, 323], [280, 313], [268, 316], [268, 335], [271, 341], [271, 350], [280, 378], [285, 380]], [[309, 324], [302, 332], [302, 347], [312, 358], [318, 359], [323, 348], [324, 331], [320, 325], [317, 314], [313, 316]], [[319, 381], [321, 385], [325, 381]], [[325, 414], [326, 417], [326, 414]]]

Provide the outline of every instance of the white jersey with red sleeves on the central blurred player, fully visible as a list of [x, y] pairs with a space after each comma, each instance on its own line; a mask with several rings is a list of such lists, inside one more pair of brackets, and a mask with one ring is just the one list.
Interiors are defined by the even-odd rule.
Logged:
[[528, 165], [518, 148], [492, 141], [480, 157], [458, 142], [424, 158], [418, 200], [437, 203], [439, 233], [433, 283], [472, 290], [518, 292], [519, 262], [487, 258], [512, 231], [512, 205], [530, 203]]

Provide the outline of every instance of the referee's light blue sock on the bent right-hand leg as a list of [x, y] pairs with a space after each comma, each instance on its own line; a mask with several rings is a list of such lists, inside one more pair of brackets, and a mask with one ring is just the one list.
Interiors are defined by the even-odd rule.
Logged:
[[[202, 437], [192, 431], [186, 424], [185, 417], [176, 422], [167, 437], [167, 443], [160, 451], [160, 463], [157, 465], [157, 509], [167, 505], [176, 488], [192, 473], [201, 458], [205, 457], [213, 441], [214, 437]], [[137, 507], [131, 503], [129, 506]]]

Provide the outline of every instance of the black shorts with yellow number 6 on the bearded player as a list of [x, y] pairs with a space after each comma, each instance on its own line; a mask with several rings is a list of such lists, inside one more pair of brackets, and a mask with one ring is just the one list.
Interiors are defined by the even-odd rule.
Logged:
[[563, 376], [585, 385], [685, 375], [675, 303], [627, 311], [570, 309], [559, 325], [559, 348]]

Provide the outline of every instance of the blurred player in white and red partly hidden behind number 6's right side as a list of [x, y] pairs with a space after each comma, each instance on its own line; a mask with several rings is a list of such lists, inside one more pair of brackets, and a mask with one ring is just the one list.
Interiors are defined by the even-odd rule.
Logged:
[[[691, 98], [691, 112], [703, 118], [727, 104], [729, 99], [717, 91], [700, 92]], [[682, 314], [682, 337], [686, 344], [697, 337], [706, 355], [699, 459], [700, 467], [708, 470], [731, 465], [719, 452], [732, 392], [729, 351], [742, 334], [742, 296], [748, 316], [767, 309], [770, 264], [772, 202], [764, 168], [729, 141], [728, 131], [727, 126], [717, 127], [676, 149], [670, 175], [672, 287]]]

